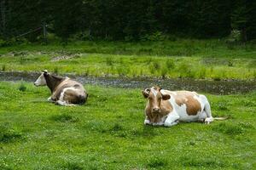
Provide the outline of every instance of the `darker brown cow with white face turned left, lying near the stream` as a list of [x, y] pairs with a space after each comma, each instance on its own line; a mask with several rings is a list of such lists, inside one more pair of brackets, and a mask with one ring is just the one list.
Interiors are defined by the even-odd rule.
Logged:
[[88, 94], [81, 83], [68, 77], [59, 77], [43, 71], [35, 86], [48, 86], [51, 96], [48, 101], [59, 105], [82, 105], [87, 100]]

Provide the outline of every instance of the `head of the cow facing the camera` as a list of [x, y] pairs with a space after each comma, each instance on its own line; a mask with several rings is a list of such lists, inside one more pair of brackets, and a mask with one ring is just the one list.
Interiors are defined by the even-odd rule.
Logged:
[[161, 88], [152, 87], [142, 91], [144, 98], [148, 99], [149, 110], [152, 113], [160, 113], [162, 100], [171, 98], [169, 94], [161, 94], [160, 90]]

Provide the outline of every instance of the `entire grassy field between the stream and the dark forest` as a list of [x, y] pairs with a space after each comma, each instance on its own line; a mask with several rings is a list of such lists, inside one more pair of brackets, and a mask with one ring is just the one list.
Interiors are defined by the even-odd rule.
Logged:
[[255, 45], [218, 40], [71, 42], [0, 49], [0, 70], [74, 73], [93, 77], [255, 79]]

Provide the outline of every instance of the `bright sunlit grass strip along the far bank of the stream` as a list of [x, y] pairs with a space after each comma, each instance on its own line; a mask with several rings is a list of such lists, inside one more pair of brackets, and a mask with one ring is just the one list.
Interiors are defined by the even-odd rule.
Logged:
[[94, 77], [255, 79], [256, 59], [26, 52], [0, 57], [3, 71], [74, 73]]

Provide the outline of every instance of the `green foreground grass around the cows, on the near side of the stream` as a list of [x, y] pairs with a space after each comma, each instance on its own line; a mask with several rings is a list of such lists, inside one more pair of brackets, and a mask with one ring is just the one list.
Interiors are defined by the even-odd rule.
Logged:
[[85, 88], [88, 103], [63, 107], [47, 102], [47, 88], [0, 82], [0, 169], [256, 166], [256, 92], [207, 94], [213, 116], [229, 116], [225, 121], [149, 127], [141, 89]]

